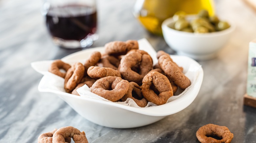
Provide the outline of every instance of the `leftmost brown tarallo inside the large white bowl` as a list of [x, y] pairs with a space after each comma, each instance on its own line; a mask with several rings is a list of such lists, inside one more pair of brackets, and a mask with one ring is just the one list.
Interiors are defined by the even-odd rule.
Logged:
[[49, 72], [52, 72], [53, 74], [56, 74], [62, 78], [65, 78], [66, 73], [61, 72], [60, 69], [68, 71], [69, 68], [71, 68], [71, 66], [69, 64], [64, 63], [61, 60], [55, 60], [51, 64], [51, 66], [49, 68]]

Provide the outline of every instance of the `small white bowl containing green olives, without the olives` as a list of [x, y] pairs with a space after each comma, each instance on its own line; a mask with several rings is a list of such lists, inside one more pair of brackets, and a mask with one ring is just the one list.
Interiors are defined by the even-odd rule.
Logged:
[[[194, 15], [187, 16], [187, 20], [194, 18]], [[196, 60], [214, 58], [235, 29], [234, 24], [231, 24], [223, 31], [200, 34], [172, 29], [168, 26], [172, 23], [174, 23], [172, 18], [168, 18], [162, 23], [164, 40], [178, 55], [189, 56]]]

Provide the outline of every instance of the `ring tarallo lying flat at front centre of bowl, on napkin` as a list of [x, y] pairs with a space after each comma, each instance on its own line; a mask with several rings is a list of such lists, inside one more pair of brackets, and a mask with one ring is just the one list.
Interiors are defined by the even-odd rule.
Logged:
[[129, 89], [129, 82], [121, 77], [107, 76], [98, 79], [91, 87], [91, 92], [116, 102], [121, 99]]

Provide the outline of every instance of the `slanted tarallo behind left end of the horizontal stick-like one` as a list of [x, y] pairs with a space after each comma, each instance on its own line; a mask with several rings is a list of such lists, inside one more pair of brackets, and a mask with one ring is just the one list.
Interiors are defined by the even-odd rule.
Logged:
[[95, 66], [101, 58], [101, 54], [99, 52], [93, 52], [90, 57], [84, 63], [84, 71], [85, 75], [87, 74], [87, 70], [91, 66]]

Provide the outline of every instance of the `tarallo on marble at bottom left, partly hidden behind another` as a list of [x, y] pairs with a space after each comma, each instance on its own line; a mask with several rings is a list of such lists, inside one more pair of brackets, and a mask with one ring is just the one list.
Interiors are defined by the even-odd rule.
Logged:
[[[53, 143], [53, 134], [57, 131], [54, 129], [52, 132], [43, 133], [38, 136], [37, 143]], [[65, 142], [70, 143], [71, 137], [66, 137]]]

